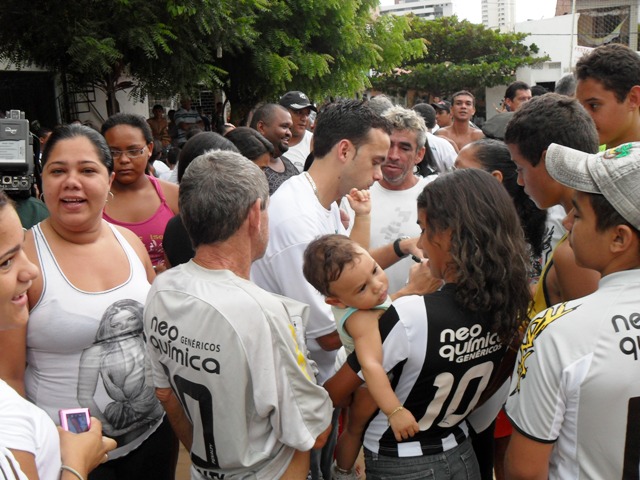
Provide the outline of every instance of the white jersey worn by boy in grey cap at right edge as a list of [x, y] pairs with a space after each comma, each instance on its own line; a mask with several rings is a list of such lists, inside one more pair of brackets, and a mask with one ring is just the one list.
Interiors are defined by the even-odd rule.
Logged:
[[638, 477], [639, 311], [640, 271], [628, 270], [529, 324], [506, 412], [523, 435], [555, 443], [550, 479]]

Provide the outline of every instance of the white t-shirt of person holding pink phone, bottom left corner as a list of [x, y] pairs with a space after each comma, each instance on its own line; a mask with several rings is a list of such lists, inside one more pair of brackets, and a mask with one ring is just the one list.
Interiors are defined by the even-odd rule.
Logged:
[[60, 440], [56, 426], [43, 410], [22, 398], [2, 380], [0, 445], [33, 454], [41, 480], [60, 478]]

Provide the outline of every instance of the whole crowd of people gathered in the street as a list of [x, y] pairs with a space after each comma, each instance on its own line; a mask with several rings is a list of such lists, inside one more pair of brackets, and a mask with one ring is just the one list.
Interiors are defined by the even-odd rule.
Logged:
[[48, 132], [46, 214], [0, 191], [2, 478], [639, 478], [639, 79]]

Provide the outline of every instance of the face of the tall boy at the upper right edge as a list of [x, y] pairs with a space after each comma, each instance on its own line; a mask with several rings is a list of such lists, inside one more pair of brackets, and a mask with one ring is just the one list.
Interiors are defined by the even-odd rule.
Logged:
[[613, 90], [594, 78], [579, 80], [576, 87], [576, 98], [593, 118], [600, 144], [608, 148], [640, 140], [634, 123], [638, 116], [635, 96], [627, 95], [624, 102], [619, 102]]

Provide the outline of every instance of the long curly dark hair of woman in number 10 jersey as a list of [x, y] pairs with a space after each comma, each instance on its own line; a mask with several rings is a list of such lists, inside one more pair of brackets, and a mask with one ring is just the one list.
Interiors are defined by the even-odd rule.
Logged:
[[509, 340], [526, 318], [531, 298], [529, 256], [513, 202], [500, 182], [478, 169], [457, 170], [418, 196], [427, 235], [450, 229], [456, 301], [492, 318], [491, 330]]

